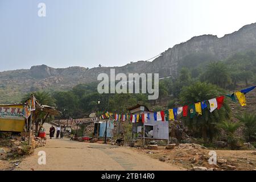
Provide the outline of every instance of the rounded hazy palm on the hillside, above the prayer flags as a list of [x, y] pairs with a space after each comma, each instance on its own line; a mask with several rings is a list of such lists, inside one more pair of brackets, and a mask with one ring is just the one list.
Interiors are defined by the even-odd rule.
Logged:
[[228, 68], [222, 62], [212, 62], [208, 64], [207, 70], [202, 75], [201, 79], [222, 88], [225, 88], [226, 85], [231, 82]]

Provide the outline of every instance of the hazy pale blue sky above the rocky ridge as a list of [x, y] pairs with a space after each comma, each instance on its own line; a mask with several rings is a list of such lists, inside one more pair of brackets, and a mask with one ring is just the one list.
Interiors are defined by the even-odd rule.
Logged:
[[255, 23], [255, 7], [255, 0], [0, 0], [0, 71], [148, 60], [193, 36], [221, 38]]

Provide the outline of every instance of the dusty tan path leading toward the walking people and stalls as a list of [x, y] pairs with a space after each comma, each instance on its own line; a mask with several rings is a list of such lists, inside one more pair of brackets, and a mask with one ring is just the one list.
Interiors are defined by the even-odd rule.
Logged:
[[[49, 125], [46, 124], [48, 131]], [[49, 135], [47, 135], [49, 137]], [[38, 152], [46, 152], [46, 165], [38, 164]], [[15, 170], [184, 170], [139, 154], [129, 147], [85, 143], [64, 139], [47, 139], [45, 147], [35, 153]]]

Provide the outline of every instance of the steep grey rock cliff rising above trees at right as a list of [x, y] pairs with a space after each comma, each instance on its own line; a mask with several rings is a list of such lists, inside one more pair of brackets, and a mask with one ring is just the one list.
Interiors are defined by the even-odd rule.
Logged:
[[177, 44], [152, 61], [147, 71], [166, 68], [164, 72], [176, 75], [180, 60], [189, 55], [204, 54], [215, 57], [216, 60], [222, 60], [236, 52], [250, 50], [256, 50], [256, 23], [246, 25], [222, 38], [201, 35], [193, 37], [185, 43]]

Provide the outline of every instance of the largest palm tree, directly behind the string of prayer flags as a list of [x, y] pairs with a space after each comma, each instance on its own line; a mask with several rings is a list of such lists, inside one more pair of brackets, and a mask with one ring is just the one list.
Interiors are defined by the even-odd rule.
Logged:
[[[180, 93], [180, 100], [183, 105], [195, 104], [196, 102], [221, 96], [222, 92], [222, 89], [216, 85], [195, 82], [195, 84], [183, 87]], [[202, 111], [203, 115], [197, 115], [193, 118], [185, 117], [183, 121], [192, 131], [193, 135], [202, 136], [204, 142], [207, 143], [208, 139], [212, 142], [213, 137], [218, 134], [217, 123], [229, 119], [230, 112], [229, 105], [224, 102], [221, 109], [216, 109], [213, 113], [210, 113], [209, 108], [206, 108]]]

